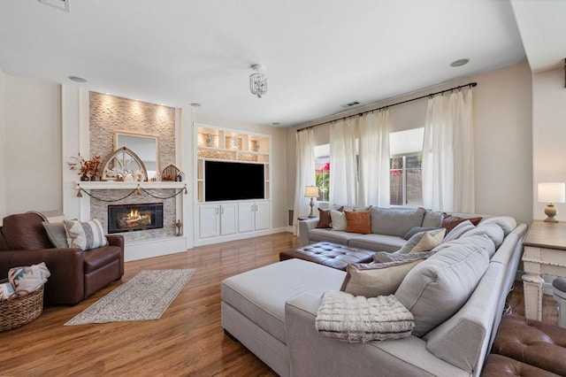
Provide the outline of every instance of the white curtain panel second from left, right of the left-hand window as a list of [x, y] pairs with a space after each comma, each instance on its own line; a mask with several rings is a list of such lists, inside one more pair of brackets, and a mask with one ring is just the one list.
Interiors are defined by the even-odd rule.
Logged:
[[330, 125], [330, 204], [356, 205], [357, 118], [340, 119]]

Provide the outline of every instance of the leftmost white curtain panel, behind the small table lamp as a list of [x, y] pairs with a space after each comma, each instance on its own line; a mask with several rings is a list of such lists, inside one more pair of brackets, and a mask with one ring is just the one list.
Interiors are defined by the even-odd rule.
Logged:
[[[294, 187], [293, 234], [298, 235], [298, 216], [310, 212], [310, 198], [304, 197], [307, 186], [315, 186], [315, 136], [312, 128], [296, 133], [296, 179]], [[317, 213], [318, 214], [318, 213]]]

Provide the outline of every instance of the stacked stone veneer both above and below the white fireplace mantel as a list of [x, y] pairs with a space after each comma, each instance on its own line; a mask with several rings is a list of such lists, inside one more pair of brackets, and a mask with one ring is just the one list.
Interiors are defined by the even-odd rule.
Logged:
[[[89, 137], [90, 156], [100, 155], [103, 163], [114, 151], [114, 133], [126, 131], [144, 135], [157, 135], [159, 143], [158, 167], [175, 165], [175, 109], [158, 104], [90, 92], [89, 96]], [[119, 184], [119, 183], [117, 183]], [[92, 194], [105, 200], [115, 200], [126, 196], [131, 190], [111, 189], [93, 190]], [[152, 194], [160, 197], [172, 196], [172, 189], [151, 189]], [[132, 195], [118, 202], [107, 203], [94, 198], [90, 199], [90, 216], [100, 219], [108, 232], [108, 204], [140, 204], [164, 203], [164, 227], [122, 233], [126, 241], [142, 241], [147, 239], [175, 235], [177, 221], [176, 199], [158, 200], [145, 193], [142, 196]]]

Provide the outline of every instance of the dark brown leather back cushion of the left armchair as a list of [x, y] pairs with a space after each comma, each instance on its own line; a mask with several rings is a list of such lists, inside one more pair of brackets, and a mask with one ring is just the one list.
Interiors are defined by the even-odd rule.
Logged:
[[3, 219], [4, 241], [11, 250], [52, 249], [43, 228], [43, 219], [36, 213], [18, 213]]

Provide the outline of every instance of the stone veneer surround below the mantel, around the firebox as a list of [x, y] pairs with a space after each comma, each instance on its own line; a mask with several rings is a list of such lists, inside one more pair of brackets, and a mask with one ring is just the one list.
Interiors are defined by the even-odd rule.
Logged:
[[[119, 197], [126, 196], [131, 189], [94, 189], [92, 190], [92, 195], [104, 200], [114, 200]], [[159, 197], [167, 197], [174, 195], [177, 190], [171, 188], [165, 189], [148, 189], [148, 191]], [[183, 195], [182, 193], [180, 195]], [[142, 192], [141, 196], [135, 193], [131, 196], [126, 197], [126, 199], [119, 200], [117, 202], [106, 203], [94, 198], [90, 199], [90, 217], [92, 219], [100, 219], [103, 224], [103, 229], [105, 233], [108, 233], [108, 205], [119, 205], [119, 204], [140, 204], [140, 203], [163, 203], [163, 228], [161, 229], [149, 229], [149, 230], [136, 230], [132, 232], [118, 233], [118, 235], [124, 235], [126, 241], [144, 241], [151, 240], [154, 238], [171, 237], [175, 235], [177, 228], [175, 223], [177, 219], [175, 217], [175, 200], [176, 197], [170, 199], [156, 199], [155, 197], [149, 196], [145, 192]]]

